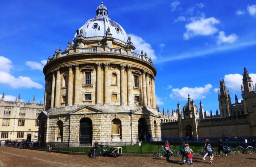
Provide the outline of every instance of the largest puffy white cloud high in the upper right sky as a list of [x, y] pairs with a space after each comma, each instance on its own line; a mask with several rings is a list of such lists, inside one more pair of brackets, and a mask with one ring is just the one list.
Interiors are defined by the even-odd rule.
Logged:
[[220, 21], [214, 17], [192, 20], [191, 23], [185, 25], [186, 32], [183, 34], [183, 37], [185, 40], [189, 40], [191, 37], [197, 35], [212, 35], [218, 31], [214, 25], [219, 24], [219, 22]]

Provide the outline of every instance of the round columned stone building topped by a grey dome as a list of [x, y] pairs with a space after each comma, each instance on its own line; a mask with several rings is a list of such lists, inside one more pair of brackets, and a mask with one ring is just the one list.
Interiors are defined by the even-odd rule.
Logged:
[[76, 31], [64, 52], [56, 50], [43, 69], [38, 140], [161, 140], [156, 69], [146, 53], [134, 50], [132, 39], [101, 3], [96, 17]]

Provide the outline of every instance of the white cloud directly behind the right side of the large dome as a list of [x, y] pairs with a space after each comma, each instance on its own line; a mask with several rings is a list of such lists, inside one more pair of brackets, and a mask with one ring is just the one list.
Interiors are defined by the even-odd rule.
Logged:
[[131, 37], [131, 41], [136, 48], [134, 52], [141, 54], [140, 52], [143, 50], [144, 53], [147, 53], [148, 58], [151, 57], [152, 60], [156, 60], [155, 51], [152, 49], [149, 43], [146, 43], [141, 37], [138, 37], [134, 34], [128, 34], [128, 36]]

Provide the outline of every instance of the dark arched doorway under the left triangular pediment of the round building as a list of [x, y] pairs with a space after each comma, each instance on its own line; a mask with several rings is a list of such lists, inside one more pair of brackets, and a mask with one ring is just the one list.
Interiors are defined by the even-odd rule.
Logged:
[[92, 121], [89, 118], [80, 120], [80, 143], [92, 143]]

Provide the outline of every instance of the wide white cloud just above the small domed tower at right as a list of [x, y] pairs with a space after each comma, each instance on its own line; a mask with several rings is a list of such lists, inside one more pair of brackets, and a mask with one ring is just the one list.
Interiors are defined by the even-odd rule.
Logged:
[[173, 88], [170, 97], [173, 99], [186, 100], [189, 94], [190, 98], [194, 100], [202, 99], [206, 97], [205, 94], [207, 94], [211, 88], [211, 84], [206, 84], [204, 87], [183, 87], [181, 89]]

